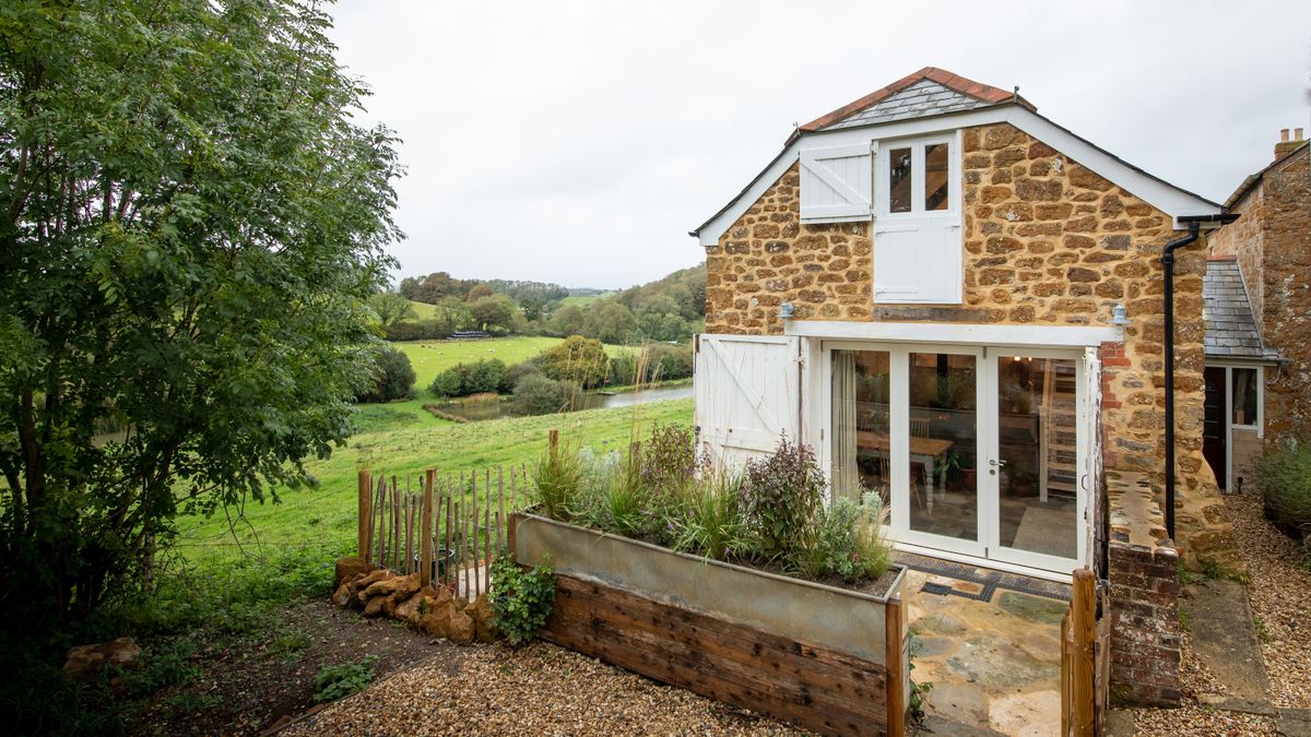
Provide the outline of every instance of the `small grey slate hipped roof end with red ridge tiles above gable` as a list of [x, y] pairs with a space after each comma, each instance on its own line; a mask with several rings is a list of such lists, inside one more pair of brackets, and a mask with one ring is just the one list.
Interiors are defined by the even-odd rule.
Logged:
[[1019, 102], [1029, 110], [1037, 110], [1028, 100], [1015, 92], [981, 84], [937, 67], [924, 67], [800, 126], [798, 131], [813, 132], [868, 126], [943, 113], [958, 113], [1002, 102]]

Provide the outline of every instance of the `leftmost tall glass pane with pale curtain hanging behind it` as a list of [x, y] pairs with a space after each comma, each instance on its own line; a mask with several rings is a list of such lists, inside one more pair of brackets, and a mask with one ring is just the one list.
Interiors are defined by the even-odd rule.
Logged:
[[859, 500], [877, 490], [886, 505], [891, 476], [888, 447], [888, 351], [832, 353], [832, 492]]

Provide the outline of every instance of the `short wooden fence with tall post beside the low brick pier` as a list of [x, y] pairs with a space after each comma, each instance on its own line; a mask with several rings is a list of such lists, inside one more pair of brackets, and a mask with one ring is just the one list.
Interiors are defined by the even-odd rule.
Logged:
[[[1105, 727], [1110, 682], [1110, 618], [1099, 605], [1092, 570], [1074, 572], [1070, 606], [1061, 619], [1061, 734], [1092, 737]], [[1099, 612], [1101, 616], [1099, 618]]]

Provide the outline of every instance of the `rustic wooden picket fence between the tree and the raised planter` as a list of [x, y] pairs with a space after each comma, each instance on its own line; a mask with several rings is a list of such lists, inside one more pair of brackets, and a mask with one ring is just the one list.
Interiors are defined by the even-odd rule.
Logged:
[[418, 573], [473, 598], [507, 544], [510, 514], [528, 506], [524, 467], [404, 477], [359, 471], [359, 557], [401, 574]]

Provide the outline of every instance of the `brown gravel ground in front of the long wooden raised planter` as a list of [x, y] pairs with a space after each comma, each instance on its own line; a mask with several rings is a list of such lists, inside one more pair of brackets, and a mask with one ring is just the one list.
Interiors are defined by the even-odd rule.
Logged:
[[545, 643], [464, 652], [454, 677], [421, 664], [281, 734], [804, 734]]

